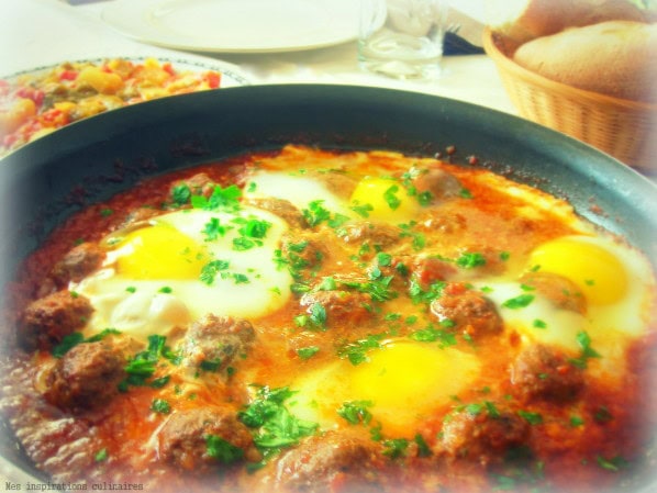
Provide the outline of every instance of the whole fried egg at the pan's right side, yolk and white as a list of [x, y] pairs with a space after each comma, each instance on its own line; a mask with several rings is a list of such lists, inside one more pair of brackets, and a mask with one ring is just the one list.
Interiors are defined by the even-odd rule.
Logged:
[[[495, 303], [506, 328], [521, 334], [525, 344], [558, 346], [574, 355], [582, 349], [578, 334], [586, 333], [600, 356], [593, 371], [621, 374], [624, 349], [650, 322], [655, 281], [648, 260], [611, 237], [570, 235], [537, 246], [526, 270], [569, 279], [583, 293], [586, 313], [559, 309], [519, 281], [476, 282]], [[523, 296], [531, 302], [513, 303]]]

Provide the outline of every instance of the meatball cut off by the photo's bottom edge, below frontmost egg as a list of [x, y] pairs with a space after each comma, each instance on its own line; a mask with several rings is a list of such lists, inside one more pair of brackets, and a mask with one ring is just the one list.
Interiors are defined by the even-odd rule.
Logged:
[[345, 492], [380, 491], [378, 445], [339, 432], [304, 439], [277, 464], [276, 490], [328, 493], [339, 484]]

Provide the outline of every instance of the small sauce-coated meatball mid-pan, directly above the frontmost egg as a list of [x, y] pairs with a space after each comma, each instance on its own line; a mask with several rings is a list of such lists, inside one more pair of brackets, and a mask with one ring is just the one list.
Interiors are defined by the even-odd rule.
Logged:
[[325, 322], [330, 326], [348, 326], [355, 327], [371, 318], [369, 304], [371, 298], [365, 293], [352, 291], [315, 291], [305, 293], [301, 296], [301, 306], [307, 307], [311, 317], [323, 318], [323, 315], [318, 316], [316, 306], [323, 309], [325, 321], [320, 320], [321, 324]]

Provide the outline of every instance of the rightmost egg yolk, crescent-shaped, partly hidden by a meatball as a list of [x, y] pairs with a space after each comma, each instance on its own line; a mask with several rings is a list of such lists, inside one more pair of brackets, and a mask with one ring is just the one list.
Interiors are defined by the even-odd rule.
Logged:
[[627, 291], [627, 273], [608, 249], [578, 238], [559, 238], [536, 248], [532, 267], [570, 279], [587, 301], [604, 305], [621, 300]]

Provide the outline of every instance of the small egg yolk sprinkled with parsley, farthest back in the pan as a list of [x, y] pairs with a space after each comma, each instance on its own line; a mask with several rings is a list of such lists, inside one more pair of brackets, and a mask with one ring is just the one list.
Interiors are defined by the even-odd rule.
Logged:
[[413, 217], [419, 203], [399, 182], [366, 177], [352, 193], [352, 209], [366, 217], [402, 223]]

